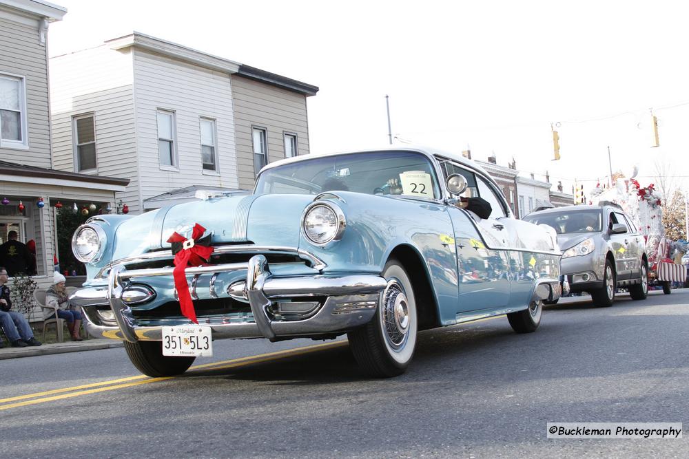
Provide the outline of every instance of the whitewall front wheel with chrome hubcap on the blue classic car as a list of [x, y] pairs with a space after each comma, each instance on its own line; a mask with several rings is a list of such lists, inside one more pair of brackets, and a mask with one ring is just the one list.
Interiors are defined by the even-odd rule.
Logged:
[[362, 370], [376, 378], [389, 378], [404, 373], [411, 362], [418, 317], [414, 290], [402, 264], [391, 259], [382, 276], [388, 282], [376, 315], [367, 325], [347, 333], [347, 338]]

